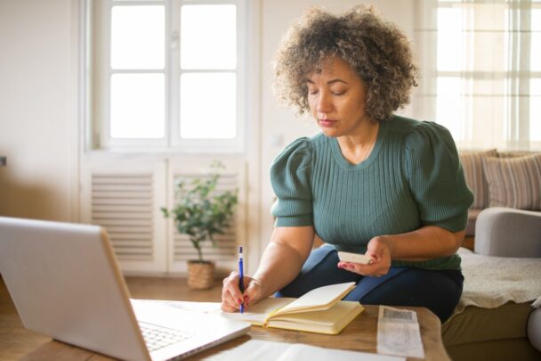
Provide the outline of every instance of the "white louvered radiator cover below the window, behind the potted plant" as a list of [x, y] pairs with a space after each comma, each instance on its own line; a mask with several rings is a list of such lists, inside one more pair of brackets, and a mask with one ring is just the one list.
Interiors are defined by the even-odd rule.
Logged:
[[[210, 164], [210, 162], [201, 163]], [[217, 190], [238, 190], [234, 226], [217, 234], [218, 243], [203, 242], [203, 257], [216, 263], [218, 273], [235, 269], [238, 245], [245, 245], [246, 182], [244, 164], [226, 165]], [[122, 159], [93, 161], [82, 172], [81, 217], [83, 222], [104, 226], [122, 270], [127, 274], [164, 275], [187, 272], [187, 261], [197, 259], [187, 234], [178, 234], [161, 207], [174, 206], [175, 181], [207, 176], [207, 169], [188, 167], [171, 159]]]

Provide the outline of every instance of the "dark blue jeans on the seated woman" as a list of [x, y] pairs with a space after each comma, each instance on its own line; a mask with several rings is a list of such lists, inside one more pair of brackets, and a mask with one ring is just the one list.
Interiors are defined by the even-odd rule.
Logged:
[[355, 282], [343, 299], [364, 305], [416, 306], [430, 309], [444, 323], [460, 299], [464, 276], [458, 270], [431, 271], [415, 267], [391, 267], [381, 277], [363, 276], [336, 267], [338, 255], [329, 246], [312, 250], [301, 273], [277, 297], [301, 297], [327, 284]]

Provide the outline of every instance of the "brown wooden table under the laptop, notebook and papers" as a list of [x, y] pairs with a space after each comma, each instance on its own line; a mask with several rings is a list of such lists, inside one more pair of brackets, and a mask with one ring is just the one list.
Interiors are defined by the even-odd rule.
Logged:
[[[235, 340], [230, 340], [213, 349], [190, 357], [190, 360], [205, 359], [215, 356], [224, 350], [235, 348], [247, 340], [271, 340], [290, 343], [303, 343], [313, 346], [322, 346], [329, 349], [352, 349], [375, 353], [377, 332], [377, 306], [365, 306], [365, 311], [360, 314], [343, 332], [336, 336], [328, 336], [309, 332], [296, 332], [279, 329], [268, 329], [252, 326], [250, 332]], [[440, 319], [432, 314], [427, 308], [413, 309], [417, 313], [417, 319], [423, 339], [424, 355], [427, 360], [450, 360], [441, 341]], [[85, 349], [52, 340], [45, 343], [35, 351], [28, 354], [23, 360], [111, 360]], [[408, 358], [414, 360], [416, 358]]]

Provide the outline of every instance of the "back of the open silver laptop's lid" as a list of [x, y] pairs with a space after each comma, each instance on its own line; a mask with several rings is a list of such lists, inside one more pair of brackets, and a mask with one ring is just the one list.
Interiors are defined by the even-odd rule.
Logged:
[[100, 226], [0, 217], [0, 273], [28, 329], [117, 358], [150, 358]]

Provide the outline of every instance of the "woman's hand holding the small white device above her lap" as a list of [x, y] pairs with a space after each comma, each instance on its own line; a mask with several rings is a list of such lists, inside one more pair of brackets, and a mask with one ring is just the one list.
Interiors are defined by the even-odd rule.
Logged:
[[367, 252], [365, 253], [371, 259], [367, 265], [352, 262], [338, 262], [338, 267], [359, 275], [371, 275], [379, 277], [387, 275], [391, 267], [391, 250], [389, 244], [385, 242], [384, 237], [374, 237], [368, 242]]

